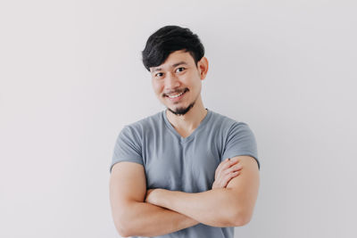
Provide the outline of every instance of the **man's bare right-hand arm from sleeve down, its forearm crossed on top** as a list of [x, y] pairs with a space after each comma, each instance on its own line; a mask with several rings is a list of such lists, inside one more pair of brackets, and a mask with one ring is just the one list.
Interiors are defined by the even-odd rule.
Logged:
[[238, 156], [242, 168], [227, 188], [203, 193], [182, 193], [155, 189], [146, 201], [166, 209], [175, 210], [208, 226], [244, 226], [252, 215], [258, 196], [259, 170], [250, 156]]

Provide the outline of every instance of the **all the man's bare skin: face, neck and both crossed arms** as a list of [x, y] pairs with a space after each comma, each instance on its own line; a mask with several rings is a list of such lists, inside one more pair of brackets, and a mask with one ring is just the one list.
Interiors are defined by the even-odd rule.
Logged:
[[[187, 137], [207, 114], [201, 98], [207, 59], [195, 64], [191, 54], [177, 51], [150, 71], [154, 93], [168, 109], [167, 118], [179, 135]], [[182, 92], [176, 99], [168, 97]], [[257, 163], [249, 156], [222, 161], [212, 190], [203, 193], [146, 191], [143, 166], [120, 162], [112, 168], [112, 217], [121, 236], [170, 234], [198, 223], [244, 226], [252, 217], [258, 187]]]

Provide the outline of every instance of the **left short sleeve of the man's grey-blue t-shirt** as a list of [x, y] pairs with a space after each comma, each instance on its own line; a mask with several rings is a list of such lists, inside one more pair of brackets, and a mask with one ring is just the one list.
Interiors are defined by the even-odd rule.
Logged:
[[122, 128], [114, 145], [114, 152], [112, 153], [112, 166], [118, 162], [129, 161], [143, 165], [143, 157], [141, 150], [140, 135], [133, 127], [126, 126]]

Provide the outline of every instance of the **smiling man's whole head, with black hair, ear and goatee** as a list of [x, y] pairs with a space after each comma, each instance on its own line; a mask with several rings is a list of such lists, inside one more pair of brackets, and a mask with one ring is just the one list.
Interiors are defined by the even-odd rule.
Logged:
[[201, 102], [201, 81], [208, 70], [203, 54], [200, 39], [177, 26], [158, 29], [146, 42], [143, 63], [152, 74], [154, 93], [176, 115]]

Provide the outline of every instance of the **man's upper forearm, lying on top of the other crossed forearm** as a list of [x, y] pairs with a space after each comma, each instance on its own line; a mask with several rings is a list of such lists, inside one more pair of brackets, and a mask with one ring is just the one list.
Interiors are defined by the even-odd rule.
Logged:
[[[231, 189], [214, 189], [203, 193], [183, 193], [157, 189], [154, 201], [162, 208], [177, 211], [208, 226], [240, 226], [242, 210]], [[243, 217], [242, 217], [243, 219]]]

